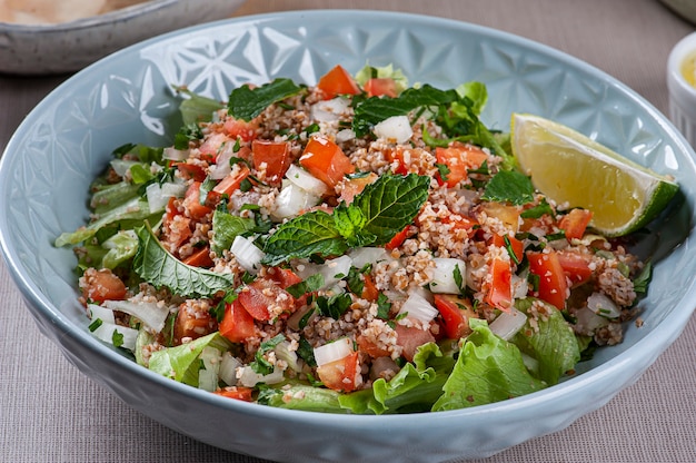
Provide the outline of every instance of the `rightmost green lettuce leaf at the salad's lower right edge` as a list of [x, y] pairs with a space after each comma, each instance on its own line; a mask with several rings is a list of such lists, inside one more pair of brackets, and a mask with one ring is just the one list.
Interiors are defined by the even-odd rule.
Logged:
[[[538, 299], [528, 297], [518, 299], [515, 307], [529, 314], [531, 304]], [[548, 316], [536, 318], [538, 328], [525, 326], [511, 339], [524, 353], [539, 362], [539, 377], [554, 385], [568, 371], [575, 368], [580, 361], [580, 347], [573, 328], [563, 317], [560, 311], [541, 301]]]

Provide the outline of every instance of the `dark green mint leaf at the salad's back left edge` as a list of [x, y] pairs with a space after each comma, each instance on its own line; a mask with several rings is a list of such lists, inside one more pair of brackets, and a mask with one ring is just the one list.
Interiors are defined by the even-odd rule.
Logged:
[[249, 121], [270, 105], [299, 93], [301, 87], [290, 79], [276, 79], [253, 89], [241, 86], [232, 90], [227, 107], [236, 119]]

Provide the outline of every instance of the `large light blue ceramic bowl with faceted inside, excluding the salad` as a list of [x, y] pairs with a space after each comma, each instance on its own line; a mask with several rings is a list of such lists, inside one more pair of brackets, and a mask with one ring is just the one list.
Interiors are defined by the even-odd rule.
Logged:
[[[644, 325], [599, 349], [559, 385], [470, 410], [338, 416], [218, 397], [149, 372], [96, 341], [76, 301], [76, 264], [51, 243], [88, 215], [88, 185], [125, 142], [166, 144], [178, 129], [171, 85], [225, 98], [242, 82], [307, 83], [339, 62], [394, 63], [411, 81], [481, 80], [485, 121], [513, 111], [571, 126], [657, 171], [682, 194], [656, 224]], [[694, 152], [669, 121], [609, 76], [519, 37], [443, 19], [360, 11], [240, 18], [131, 47], [81, 71], [24, 120], [0, 164], [2, 254], [41, 331], [86, 375], [135, 408], [206, 443], [292, 462], [439, 462], [483, 457], [558, 431], [635, 382], [678, 336], [696, 305]], [[22, 329], [17, 326], [16, 329]], [[128, 445], [128, 443], [123, 443]]]

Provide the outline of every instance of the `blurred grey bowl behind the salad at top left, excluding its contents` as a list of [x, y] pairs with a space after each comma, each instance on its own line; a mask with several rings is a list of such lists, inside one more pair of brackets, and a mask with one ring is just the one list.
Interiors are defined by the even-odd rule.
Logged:
[[0, 72], [47, 75], [76, 71], [143, 39], [225, 19], [243, 2], [151, 0], [69, 22], [0, 22]]

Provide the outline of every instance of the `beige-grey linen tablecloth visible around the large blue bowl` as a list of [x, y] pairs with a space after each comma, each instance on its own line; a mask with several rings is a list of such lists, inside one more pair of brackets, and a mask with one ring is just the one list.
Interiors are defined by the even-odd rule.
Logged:
[[[665, 114], [667, 55], [694, 30], [657, 0], [250, 0], [239, 14], [312, 8], [407, 11], [517, 33], [608, 72]], [[66, 78], [0, 75], [0, 149], [23, 116]], [[696, 462], [695, 344], [692, 319], [647, 373], [608, 405], [486, 462]], [[261, 462], [177, 434], [78, 373], [40, 335], [4, 264], [0, 461]]]

